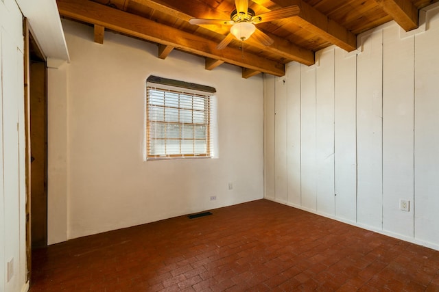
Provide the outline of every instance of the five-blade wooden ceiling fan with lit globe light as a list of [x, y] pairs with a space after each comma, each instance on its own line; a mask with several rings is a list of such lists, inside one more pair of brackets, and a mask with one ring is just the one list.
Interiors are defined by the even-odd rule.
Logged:
[[235, 0], [235, 7], [236, 9], [230, 14], [230, 20], [191, 18], [189, 23], [191, 25], [231, 25], [232, 27], [230, 27], [230, 32], [226, 38], [217, 45], [219, 50], [227, 47], [234, 37], [244, 42], [244, 40], [253, 36], [261, 44], [270, 46], [274, 40], [254, 25], [296, 16], [300, 12], [298, 5], [291, 5], [255, 15], [254, 11], [248, 8], [248, 0]]

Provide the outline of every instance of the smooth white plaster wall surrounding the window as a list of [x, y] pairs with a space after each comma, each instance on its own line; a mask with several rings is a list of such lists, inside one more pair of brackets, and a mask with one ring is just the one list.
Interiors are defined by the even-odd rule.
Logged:
[[[71, 63], [49, 69], [49, 243], [263, 198], [263, 78], [63, 21]], [[150, 75], [217, 90], [218, 159], [143, 161]], [[233, 189], [228, 189], [233, 183]], [[217, 196], [210, 201], [210, 196]]]

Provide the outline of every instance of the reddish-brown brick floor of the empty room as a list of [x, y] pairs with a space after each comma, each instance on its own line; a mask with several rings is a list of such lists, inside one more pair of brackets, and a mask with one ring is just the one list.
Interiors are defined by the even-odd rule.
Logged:
[[38, 291], [439, 291], [439, 252], [268, 200], [32, 252]]

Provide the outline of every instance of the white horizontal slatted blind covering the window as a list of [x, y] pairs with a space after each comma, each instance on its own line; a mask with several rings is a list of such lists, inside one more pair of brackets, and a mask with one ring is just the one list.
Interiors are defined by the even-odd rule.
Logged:
[[147, 82], [146, 159], [214, 156], [211, 93]]

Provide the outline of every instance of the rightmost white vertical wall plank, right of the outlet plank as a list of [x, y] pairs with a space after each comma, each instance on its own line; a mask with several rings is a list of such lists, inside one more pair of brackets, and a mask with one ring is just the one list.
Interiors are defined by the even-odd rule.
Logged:
[[[427, 11], [425, 33], [416, 35], [415, 56], [415, 168], [416, 239], [439, 245], [439, 5]], [[422, 14], [421, 14], [422, 15]]]

